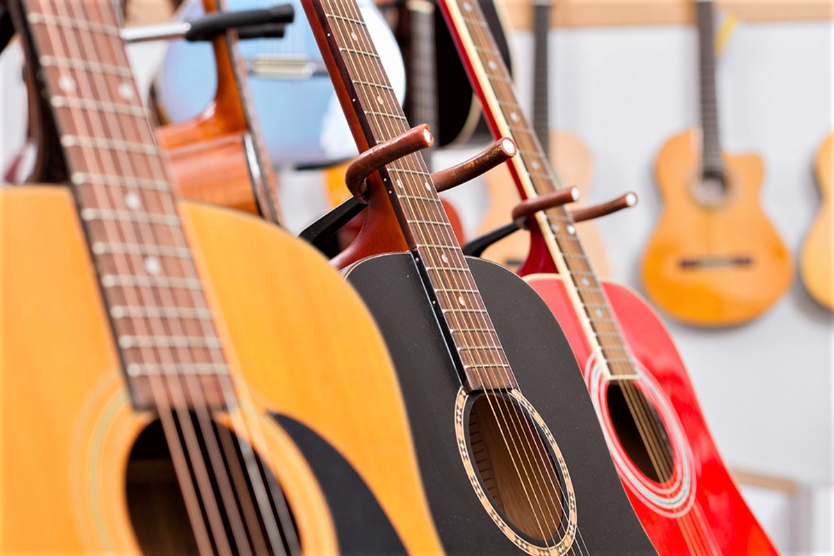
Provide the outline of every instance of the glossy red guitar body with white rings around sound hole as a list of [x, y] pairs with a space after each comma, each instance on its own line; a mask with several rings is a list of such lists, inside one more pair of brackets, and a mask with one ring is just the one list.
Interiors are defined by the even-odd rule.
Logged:
[[641, 376], [633, 384], [653, 406], [653, 415], [661, 420], [672, 446], [674, 469], [671, 479], [662, 484], [641, 471], [630, 455], [628, 435], [617, 433], [616, 416], [625, 414], [619, 413], [620, 405], [614, 405], [618, 399], [609, 397], [611, 383], [600, 374], [591, 355], [564, 281], [553, 274], [532, 274], [525, 280], [550, 306], [565, 331], [620, 479], [661, 554], [777, 554], [721, 461], [681, 356], [649, 305], [624, 286], [604, 283], [638, 363]]

